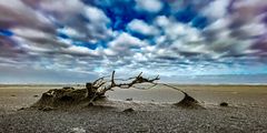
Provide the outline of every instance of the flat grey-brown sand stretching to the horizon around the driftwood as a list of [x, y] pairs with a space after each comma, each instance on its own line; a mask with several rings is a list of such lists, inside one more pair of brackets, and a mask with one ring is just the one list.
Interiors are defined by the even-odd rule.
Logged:
[[[56, 88], [60, 86], [0, 86], [0, 133], [267, 132], [267, 86], [178, 86], [200, 101], [206, 110], [174, 108], [171, 103], [182, 95], [175, 90], [156, 88], [110, 92], [109, 99], [113, 102], [108, 103], [109, 108], [17, 111]], [[122, 102], [127, 98], [134, 101]], [[228, 102], [229, 106], [221, 108], [220, 102]], [[122, 112], [127, 108], [135, 111]]]

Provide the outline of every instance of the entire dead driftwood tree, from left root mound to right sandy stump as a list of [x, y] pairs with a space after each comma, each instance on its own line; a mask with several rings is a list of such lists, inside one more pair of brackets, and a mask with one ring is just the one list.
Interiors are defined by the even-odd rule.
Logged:
[[[182, 108], [198, 108], [200, 106], [199, 102], [190, 96], [185, 91], [175, 88], [169, 84], [164, 83], [156, 83], [159, 80], [159, 75], [152, 79], [144, 78], [142, 72], [139, 73], [137, 76], [129, 78], [126, 80], [115, 79], [115, 71], [111, 74], [110, 80], [106, 80], [108, 76], [102, 76], [97, 79], [91, 83], [86, 84], [86, 89], [76, 90], [73, 88], [63, 88], [63, 89], [55, 89], [49, 90], [48, 92], [43, 93], [41, 99], [34, 104], [36, 106], [59, 106], [59, 105], [68, 105], [68, 104], [78, 104], [82, 101], [89, 101], [89, 105], [92, 106], [95, 101], [101, 100], [106, 98], [107, 91], [112, 91], [115, 88], [119, 89], [142, 89], [148, 90], [156, 85], [164, 85], [177, 91], [180, 91], [185, 98], [175, 103], [177, 106]], [[122, 83], [118, 83], [117, 81], [123, 81]], [[137, 84], [148, 83], [151, 84], [149, 88], [138, 88]]]

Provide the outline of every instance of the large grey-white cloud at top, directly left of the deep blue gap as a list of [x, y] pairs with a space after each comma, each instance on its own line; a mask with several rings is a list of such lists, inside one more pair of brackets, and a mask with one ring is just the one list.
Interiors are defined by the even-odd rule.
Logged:
[[[67, 34], [70, 33], [68, 35], [75, 39], [108, 40], [112, 35], [112, 30], [107, 28], [110, 20], [105, 12], [80, 0], [46, 0], [36, 2], [36, 4], [55, 23], [63, 24], [65, 28], [60, 30]], [[81, 14], [89, 22], [85, 21]]]

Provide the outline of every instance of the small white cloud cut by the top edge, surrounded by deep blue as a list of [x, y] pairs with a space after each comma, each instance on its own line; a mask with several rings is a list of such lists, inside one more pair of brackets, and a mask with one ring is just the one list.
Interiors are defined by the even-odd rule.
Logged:
[[164, 4], [159, 0], [136, 0], [137, 9], [142, 9], [149, 12], [159, 12]]

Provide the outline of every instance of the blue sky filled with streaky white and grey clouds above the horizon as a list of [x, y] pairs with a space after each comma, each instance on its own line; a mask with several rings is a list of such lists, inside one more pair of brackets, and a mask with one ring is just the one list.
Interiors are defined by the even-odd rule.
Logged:
[[86, 82], [112, 70], [248, 82], [267, 75], [266, 27], [266, 0], [1, 0], [0, 83]]

